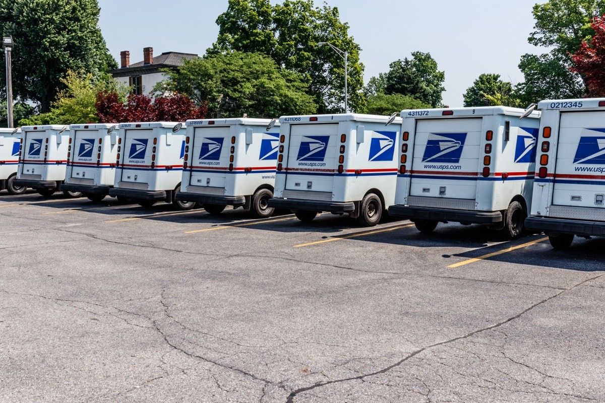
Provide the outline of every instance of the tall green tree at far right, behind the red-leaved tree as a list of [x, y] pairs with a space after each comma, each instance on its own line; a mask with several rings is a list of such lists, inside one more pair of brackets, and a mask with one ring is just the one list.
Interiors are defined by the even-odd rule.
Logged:
[[519, 69], [525, 82], [518, 86], [526, 103], [546, 98], [577, 98], [586, 93], [580, 75], [571, 73], [571, 54], [590, 39], [594, 30], [590, 22], [605, 13], [605, 0], [548, 0], [534, 5], [534, 31], [529, 43], [552, 48], [550, 53], [525, 54]]

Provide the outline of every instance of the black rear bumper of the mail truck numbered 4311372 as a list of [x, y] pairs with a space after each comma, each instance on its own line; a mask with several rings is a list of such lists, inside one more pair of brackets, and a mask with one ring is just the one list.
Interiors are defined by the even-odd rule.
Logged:
[[446, 208], [391, 205], [388, 213], [393, 216], [434, 221], [470, 222], [471, 224], [495, 224], [502, 222], [500, 211], [448, 210]]

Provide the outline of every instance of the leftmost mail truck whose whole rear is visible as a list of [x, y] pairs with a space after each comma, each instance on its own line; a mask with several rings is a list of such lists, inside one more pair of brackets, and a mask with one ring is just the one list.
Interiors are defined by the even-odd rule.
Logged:
[[[42, 196], [51, 196], [65, 181], [70, 139], [68, 126], [21, 127], [21, 158], [15, 184], [33, 187]], [[66, 196], [80, 197], [80, 192], [64, 190]]]

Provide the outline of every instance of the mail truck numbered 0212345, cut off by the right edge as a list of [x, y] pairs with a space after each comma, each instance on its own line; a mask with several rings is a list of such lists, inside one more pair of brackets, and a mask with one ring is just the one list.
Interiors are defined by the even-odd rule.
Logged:
[[605, 98], [546, 100], [531, 216], [556, 249], [574, 236], [605, 236]]

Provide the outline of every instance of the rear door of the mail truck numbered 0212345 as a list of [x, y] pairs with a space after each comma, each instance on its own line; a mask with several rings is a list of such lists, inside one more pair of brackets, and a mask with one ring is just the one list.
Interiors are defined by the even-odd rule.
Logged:
[[605, 208], [604, 121], [604, 112], [561, 112], [552, 204]]

